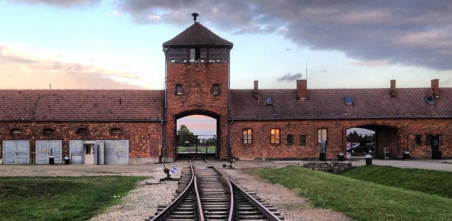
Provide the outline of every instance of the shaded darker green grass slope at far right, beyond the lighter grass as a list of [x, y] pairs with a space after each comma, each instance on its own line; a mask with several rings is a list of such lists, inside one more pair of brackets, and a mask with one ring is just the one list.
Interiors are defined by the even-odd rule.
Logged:
[[452, 172], [372, 165], [355, 167], [340, 175], [452, 198]]

